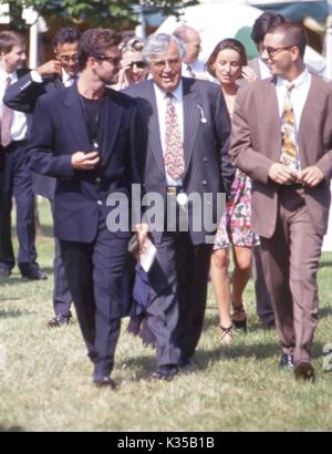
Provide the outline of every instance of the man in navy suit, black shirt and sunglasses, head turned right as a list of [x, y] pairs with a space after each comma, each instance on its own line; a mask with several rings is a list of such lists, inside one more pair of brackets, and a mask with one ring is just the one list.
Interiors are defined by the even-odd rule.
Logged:
[[56, 178], [54, 235], [94, 364], [93, 381], [111, 389], [131, 229], [115, 231], [108, 205], [120, 194], [131, 206], [131, 185], [141, 182], [144, 156], [135, 101], [105, 86], [117, 82], [120, 42], [106, 29], [83, 33], [79, 82], [38, 100], [28, 147], [31, 168]]

